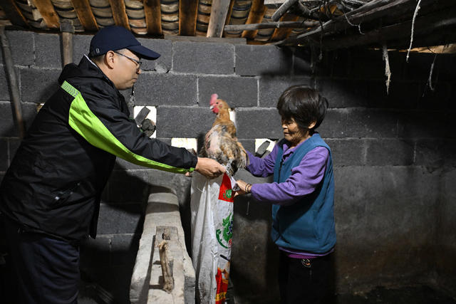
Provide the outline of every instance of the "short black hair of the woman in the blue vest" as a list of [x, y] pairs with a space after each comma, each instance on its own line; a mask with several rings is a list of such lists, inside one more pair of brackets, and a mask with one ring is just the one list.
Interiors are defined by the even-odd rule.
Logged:
[[282, 119], [293, 118], [301, 130], [309, 129], [309, 125], [316, 122], [310, 129], [311, 132], [321, 124], [327, 108], [328, 100], [306, 85], [293, 85], [287, 88], [277, 103], [277, 110]]

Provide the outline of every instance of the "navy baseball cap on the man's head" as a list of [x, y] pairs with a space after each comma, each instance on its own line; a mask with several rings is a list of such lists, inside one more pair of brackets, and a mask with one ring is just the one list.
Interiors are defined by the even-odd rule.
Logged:
[[118, 51], [122, 48], [127, 48], [140, 58], [154, 60], [160, 57], [159, 53], [141, 46], [133, 33], [122, 26], [106, 26], [95, 33], [92, 41], [90, 41], [89, 56], [96, 57], [108, 53], [108, 51]]

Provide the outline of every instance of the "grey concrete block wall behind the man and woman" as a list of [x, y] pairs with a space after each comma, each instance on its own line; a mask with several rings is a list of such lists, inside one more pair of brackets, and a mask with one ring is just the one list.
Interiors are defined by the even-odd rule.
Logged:
[[[43, 103], [57, 86], [61, 38], [23, 31], [7, 31], [7, 36], [28, 126], [36, 103]], [[76, 63], [88, 52], [90, 38], [74, 36]], [[296, 48], [140, 41], [162, 56], [142, 65], [135, 105], [157, 107], [157, 138], [168, 143], [172, 137], [199, 137], [209, 130], [212, 93], [235, 108], [239, 140], [251, 151], [255, 138], [281, 137], [275, 105], [289, 85], [313, 85], [328, 98], [330, 109], [319, 131], [336, 166], [339, 292], [418, 279], [456, 290], [455, 267], [448, 267], [455, 266], [450, 257], [456, 253], [455, 56], [437, 56], [432, 92], [426, 85], [432, 54], [413, 54], [405, 63], [405, 53], [390, 53], [393, 76], [387, 95], [380, 51], [323, 53], [322, 61], [312, 66], [311, 55]], [[3, 62], [1, 58], [0, 179], [20, 142]], [[124, 93], [128, 98], [130, 92]], [[238, 175], [267, 180], [247, 172]], [[189, 229], [190, 181], [118, 160], [103, 194], [98, 238], [88, 241], [81, 253], [90, 277], [120, 302], [128, 298], [149, 187], [175, 187], [182, 224]], [[274, 303], [270, 206], [248, 196], [234, 206], [234, 288], [241, 298], [264, 297]]]

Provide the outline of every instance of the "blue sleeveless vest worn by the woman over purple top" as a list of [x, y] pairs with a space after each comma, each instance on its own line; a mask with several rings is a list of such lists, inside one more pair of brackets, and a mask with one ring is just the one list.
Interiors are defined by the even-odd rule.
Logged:
[[325, 253], [336, 244], [331, 149], [320, 135], [315, 133], [282, 162], [284, 142], [279, 142], [274, 182], [285, 182], [291, 174], [291, 169], [298, 166], [307, 152], [315, 147], [328, 149], [329, 157], [323, 180], [313, 193], [290, 206], [272, 205], [272, 240], [281, 247]]

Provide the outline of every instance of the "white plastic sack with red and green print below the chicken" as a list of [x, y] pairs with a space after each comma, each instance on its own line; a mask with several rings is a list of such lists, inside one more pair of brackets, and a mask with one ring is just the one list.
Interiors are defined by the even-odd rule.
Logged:
[[222, 304], [228, 288], [236, 181], [227, 174], [216, 179], [197, 172], [192, 175], [192, 262], [197, 303]]

